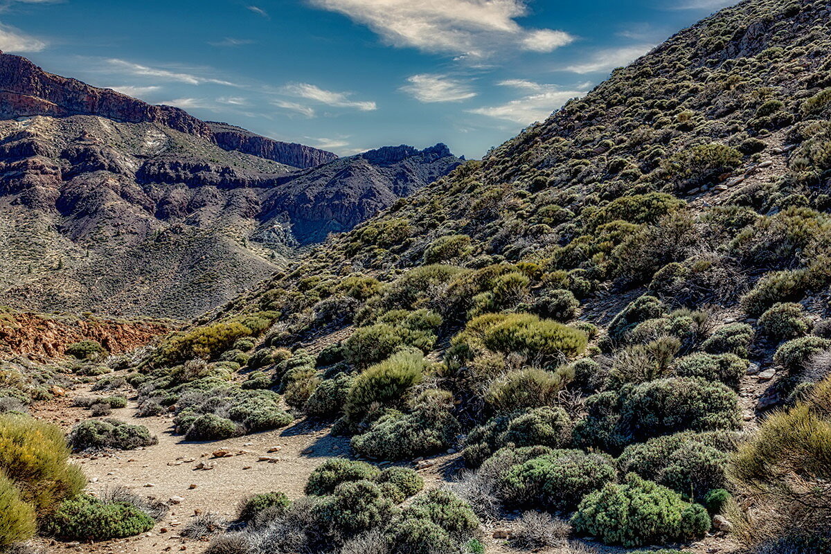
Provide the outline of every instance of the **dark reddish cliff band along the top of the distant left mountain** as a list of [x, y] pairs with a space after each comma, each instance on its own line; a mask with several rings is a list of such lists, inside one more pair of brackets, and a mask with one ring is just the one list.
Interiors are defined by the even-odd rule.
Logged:
[[170, 105], [150, 105], [110, 89], [52, 75], [21, 56], [0, 52], [0, 117], [99, 115], [128, 123], [156, 123], [280, 164], [309, 168], [337, 159], [311, 146], [280, 142], [223, 123], [207, 123]]

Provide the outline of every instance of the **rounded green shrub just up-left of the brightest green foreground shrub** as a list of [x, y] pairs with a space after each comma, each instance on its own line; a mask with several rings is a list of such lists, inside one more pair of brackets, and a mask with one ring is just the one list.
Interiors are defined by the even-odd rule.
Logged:
[[554, 450], [514, 465], [503, 477], [504, 498], [512, 504], [571, 512], [588, 493], [614, 481], [607, 454]]

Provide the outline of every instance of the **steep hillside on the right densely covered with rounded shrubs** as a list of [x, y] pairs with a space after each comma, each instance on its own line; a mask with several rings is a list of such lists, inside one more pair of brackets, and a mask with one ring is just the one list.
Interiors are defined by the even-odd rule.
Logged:
[[515, 549], [827, 552], [829, 32], [825, 2], [725, 8], [125, 361], [187, 439], [307, 416], [371, 462], [461, 451], [425, 493], [329, 460], [208, 552], [484, 552], [516, 512]]

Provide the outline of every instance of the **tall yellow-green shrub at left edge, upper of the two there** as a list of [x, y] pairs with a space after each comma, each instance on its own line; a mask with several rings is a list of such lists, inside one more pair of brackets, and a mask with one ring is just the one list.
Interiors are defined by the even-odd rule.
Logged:
[[38, 515], [86, 485], [81, 469], [69, 463], [61, 429], [20, 414], [0, 414], [0, 473]]

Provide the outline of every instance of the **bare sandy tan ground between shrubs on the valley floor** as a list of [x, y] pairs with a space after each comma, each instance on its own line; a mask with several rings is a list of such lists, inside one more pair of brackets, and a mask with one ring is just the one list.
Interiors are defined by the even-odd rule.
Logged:
[[[755, 379], [750, 376], [745, 378], [743, 388], [747, 404], [756, 394], [750, 386], [753, 382]], [[127, 389], [116, 392], [133, 395], [133, 391]], [[71, 406], [72, 398], [89, 394], [88, 385], [77, 387], [67, 391], [66, 397], [35, 404], [32, 406], [32, 414], [68, 429], [89, 417], [86, 409]], [[231, 521], [238, 512], [240, 501], [255, 493], [282, 491], [289, 498], [299, 498], [303, 495], [303, 485], [314, 468], [327, 458], [350, 455], [349, 439], [332, 436], [329, 424], [305, 419], [297, 420], [287, 429], [234, 439], [192, 442], [184, 441], [181, 435], [172, 433], [172, 415], [136, 417], [135, 400], [130, 400], [125, 408], [114, 409], [111, 417], [130, 424], [145, 425], [158, 437], [159, 443], [130, 451], [73, 456], [89, 478], [88, 490], [101, 493], [106, 488], [130, 488], [135, 493], [170, 503], [170, 512], [152, 531], [138, 537], [98, 543], [41, 539], [39, 546], [46, 554], [67, 551], [90, 554], [201, 554], [208, 547], [207, 539], [196, 541], [180, 536], [181, 530], [194, 515], [214, 512]], [[227, 454], [221, 457], [214, 455], [223, 452]], [[426, 488], [439, 487], [463, 467], [458, 453], [437, 456], [430, 458], [430, 461], [434, 464], [419, 472], [425, 479]], [[405, 465], [410, 467], [413, 464]], [[488, 554], [522, 552], [508, 547], [504, 538], [494, 537], [494, 534], [499, 536], [500, 531], [509, 530], [510, 527], [510, 521], [485, 525], [483, 543]], [[605, 547], [596, 542], [586, 544], [608, 554], [624, 552], [624, 549]], [[725, 537], [711, 536], [684, 549], [696, 554], [730, 554], [735, 552], [735, 545]], [[554, 554], [558, 549], [536, 552]]]

